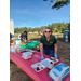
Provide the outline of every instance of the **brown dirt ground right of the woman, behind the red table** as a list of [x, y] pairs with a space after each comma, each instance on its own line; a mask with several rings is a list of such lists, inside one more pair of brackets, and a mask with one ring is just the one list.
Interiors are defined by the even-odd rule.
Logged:
[[70, 65], [70, 42], [57, 42], [58, 51], [58, 59]]

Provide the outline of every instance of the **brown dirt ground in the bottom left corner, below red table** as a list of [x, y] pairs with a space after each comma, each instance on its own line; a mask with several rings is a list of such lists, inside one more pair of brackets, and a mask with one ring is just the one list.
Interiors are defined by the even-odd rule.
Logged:
[[10, 63], [10, 81], [33, 81], [17, 65]]

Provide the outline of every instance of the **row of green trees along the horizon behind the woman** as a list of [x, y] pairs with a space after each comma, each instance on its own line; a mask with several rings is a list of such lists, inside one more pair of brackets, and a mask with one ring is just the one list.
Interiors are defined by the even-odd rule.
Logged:
[[41, 27], [35, 27], [35, 28], [31, 28], [31, 27], [21, 27], [21, 28], [14, 28], [14, 32], [15, 33], [22, 33], [24, 32], [25, 30], [27, 32], [33, 32], [33, 31], [38, 31], [38, 32], [42, 32], [43, 29], [45, 27], [51, 27], [53, 29], [53, 32], [63, 32], [64, 30], [70, 30], [70, 23], [53, 23], [51, 25], [48, 25], [48, 26], [41, 26]]

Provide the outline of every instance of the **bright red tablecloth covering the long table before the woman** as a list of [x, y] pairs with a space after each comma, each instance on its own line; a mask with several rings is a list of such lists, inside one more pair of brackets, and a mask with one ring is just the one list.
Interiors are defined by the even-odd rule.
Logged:
[[[22, 53], [14, 53], [10, 52], [10, 59], [14, 62], [19, 68], [22, 68], [28, 76], [30, 76], [35, 81], [53, 81], [49, 77], [49, 69], [45, 68], [40, 72], [36, 72], [32, 68], [31, 65], [35, 63], [41, 62], [41, 54], [40, 52], [35, 51], [32, 54], [32, 57], [30, 59], [24, 59], [22, 56]], [[48, 56], [44, 54], [44, 58], [50, 58], [51, 56]], [[60, 64], [63, 62], [57, 62], [54, 64], [54, 66]], [[65, 63], [63, 63], [65, 64]], [[67, 64], [65, 64], [67, 65]], [[69, 66], [70, 67], [70, 66]], [[64, 81], [70, 81], [70, 73], [64, 79]]]

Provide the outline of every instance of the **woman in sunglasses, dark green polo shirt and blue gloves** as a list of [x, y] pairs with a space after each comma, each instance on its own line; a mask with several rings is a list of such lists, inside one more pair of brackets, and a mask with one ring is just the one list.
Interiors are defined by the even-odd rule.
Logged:
[[52, 57], [55, 56], [57, 59], [57, 41], [54, 36], [52, 36], [52, 29], [50, 27], [44, 28], [43, 36], [40, 38], [40, 52], [41, 60], [44, 59], [43, 53]]

